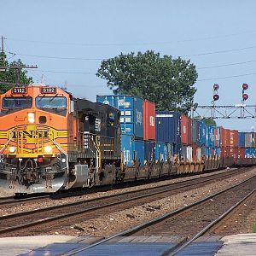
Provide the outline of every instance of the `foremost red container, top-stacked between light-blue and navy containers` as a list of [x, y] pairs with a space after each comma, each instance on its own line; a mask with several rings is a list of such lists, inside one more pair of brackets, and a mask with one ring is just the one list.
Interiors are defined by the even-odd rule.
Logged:
[[155, 104], [147, 100], [143, 102], [143, 138], [155, 140]]

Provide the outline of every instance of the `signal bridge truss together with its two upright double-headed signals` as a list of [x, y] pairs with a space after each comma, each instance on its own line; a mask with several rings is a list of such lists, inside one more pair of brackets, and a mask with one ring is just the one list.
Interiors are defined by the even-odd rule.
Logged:
[[[212, 105], [197, 106], [196, 109], [191, 108], [192, 119], [247, 119], [256, 118], [256, 105], [247, 105], [245, 102], [249, 98], [246, 90], [248, 84], [241, 85], [241, 104], [236, 105], [216, 105], [219, 100], [218, 84], [213, 84]], [[201, 111], [205, 111], [201, 114]], [[210, 114], [209, 114], [210, 113]]]

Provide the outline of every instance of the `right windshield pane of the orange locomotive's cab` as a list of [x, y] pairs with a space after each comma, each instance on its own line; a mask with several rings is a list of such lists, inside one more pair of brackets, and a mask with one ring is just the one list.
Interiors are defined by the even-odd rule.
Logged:
[[65, 97], [36, 97], [37, 108], [67, 108]]

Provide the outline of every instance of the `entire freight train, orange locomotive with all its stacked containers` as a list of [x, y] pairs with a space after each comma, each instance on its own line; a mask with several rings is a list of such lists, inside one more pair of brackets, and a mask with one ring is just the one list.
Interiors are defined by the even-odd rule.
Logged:
[[28, 84], [0, 96], [0, 187], [56, 192], [256, 163], [254, 133], [155, 111], [137, 96], [79, 99]]

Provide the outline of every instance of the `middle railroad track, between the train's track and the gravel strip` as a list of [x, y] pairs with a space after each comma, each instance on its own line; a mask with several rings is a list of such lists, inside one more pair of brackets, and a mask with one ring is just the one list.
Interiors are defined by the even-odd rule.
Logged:
[[[160, 198], [195, 189], [201, 184], [212, 183], [212, 181], [215, 182], [219, 179], [224, 179], [224, 177], [233, 176], [235, 173], [234, 171], [218, 173], [218, 176], [198, 177], [181, 183], [172, 183], [150, 189], [140, 189], [118, 195], [108, 195], [96, 199], [76, 201], [65, 205], [3, 216], [0, 218], [0, 236], [10, 233], [17, 236], [17, 234], [20, 235], [20, 232], [22, 235], [32, 236], [37, 234], [38, 230], [40, 232], [48, 232], [52, 225], [58, 224], [61, 226], [68, 223], [72, 225], [73, 217], [75, 217], [76, 222], [97, 218], [106, 215], [108, 212], [116, 212], [117, 205], [119, 206], [119, 211], [137, 207]], [[50, 227], [49, 223], [52, 223]], [[38, 226], [40, 226], [40, 229], [38, 229]]]

